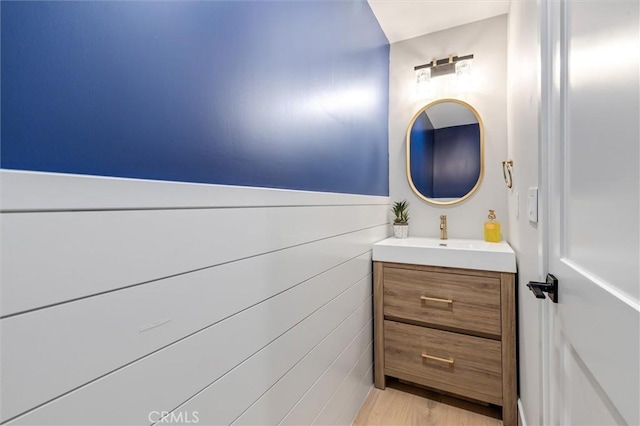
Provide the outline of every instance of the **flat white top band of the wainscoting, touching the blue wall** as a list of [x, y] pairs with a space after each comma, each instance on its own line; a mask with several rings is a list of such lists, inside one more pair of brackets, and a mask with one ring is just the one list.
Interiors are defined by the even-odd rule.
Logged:
[[388, 197], [0, 170], [0, 209], [111, 210], [389, 204]]

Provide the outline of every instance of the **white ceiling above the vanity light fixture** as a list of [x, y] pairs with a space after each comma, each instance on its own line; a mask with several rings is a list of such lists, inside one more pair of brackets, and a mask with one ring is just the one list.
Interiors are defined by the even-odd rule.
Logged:
[[511, 0], [367, 0], [389, 43], [509, 12]]

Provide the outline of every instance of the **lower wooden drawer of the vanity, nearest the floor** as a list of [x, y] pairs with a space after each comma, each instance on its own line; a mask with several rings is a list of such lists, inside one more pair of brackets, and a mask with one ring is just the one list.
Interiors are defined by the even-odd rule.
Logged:
[[385, 374], [502, 404], [500, 341], [384, 322]]

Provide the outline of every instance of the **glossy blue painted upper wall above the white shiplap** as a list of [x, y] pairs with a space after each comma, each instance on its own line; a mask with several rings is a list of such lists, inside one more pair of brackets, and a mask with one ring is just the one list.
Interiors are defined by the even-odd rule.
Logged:
[[388, 195], [364, 0], [1, 8], [5, 169]]

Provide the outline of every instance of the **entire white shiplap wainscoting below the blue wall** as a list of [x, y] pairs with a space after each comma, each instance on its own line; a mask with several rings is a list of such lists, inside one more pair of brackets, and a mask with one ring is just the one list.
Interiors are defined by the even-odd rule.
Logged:
[[354, 418], [373, 381], [388, 197], [0, 179], [1, 422]]

